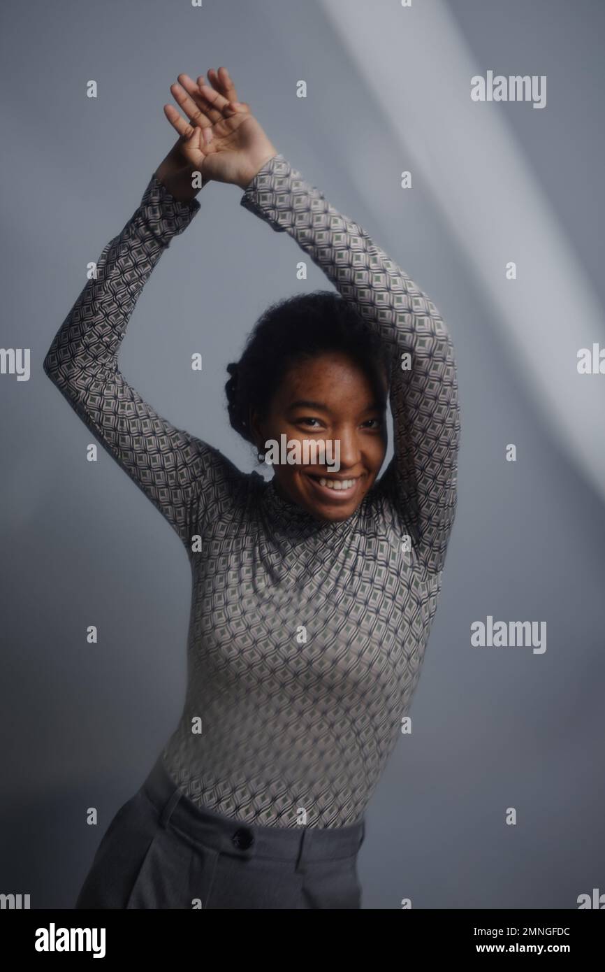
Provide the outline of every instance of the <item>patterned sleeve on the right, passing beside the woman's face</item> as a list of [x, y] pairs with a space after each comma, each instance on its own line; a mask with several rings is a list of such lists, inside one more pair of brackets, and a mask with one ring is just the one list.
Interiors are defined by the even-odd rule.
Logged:
[[[286, 232], [392, 352], [393, 459], [380, 487], [426, 569], [443, 569], [457, 502], [460, 434], [454, 346], [431, 300], [368, 233], [331, 206], [280, 153], [241, 204]], [[402, 356], [411, 355], [411, 367]]]

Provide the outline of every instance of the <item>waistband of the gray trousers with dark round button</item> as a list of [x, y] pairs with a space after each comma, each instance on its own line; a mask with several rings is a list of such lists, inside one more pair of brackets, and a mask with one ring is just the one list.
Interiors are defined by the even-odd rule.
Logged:
[[178, 788], [161, 754], [141, 789], [155, 807], [160, 826], [170, 822], [191, 840], [221, 853], [291, 860], [298, 870], [307, 862], [350, 857], [365, 837], [364, 818], [343, 827], [272, 827], [198, 807]]

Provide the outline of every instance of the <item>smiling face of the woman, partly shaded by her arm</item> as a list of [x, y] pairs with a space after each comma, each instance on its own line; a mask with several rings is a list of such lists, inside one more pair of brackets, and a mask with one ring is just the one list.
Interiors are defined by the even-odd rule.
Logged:
[[[301, 463], [274, 467], [278, 492], [320, 520], [352, 516], [385, 459], [386, 400], [386, 377], [382, 400], [377, 400], [365, 371], [344, 353], [326, 352], [292, 365], [264, 421], [252, 412], [259, 452], [270, 440], [281, 443], [282, 435], [288, 448], [294, 440], [301, 446]], [[317, 462], [312, 452], [305, 465], [302, 444], [312, 439], [326, 442], [325, 455]], [[335, 457], [340, 460], [337, 471], [330, 468]], [[335, 489], [335, 483], [345, 488]]]

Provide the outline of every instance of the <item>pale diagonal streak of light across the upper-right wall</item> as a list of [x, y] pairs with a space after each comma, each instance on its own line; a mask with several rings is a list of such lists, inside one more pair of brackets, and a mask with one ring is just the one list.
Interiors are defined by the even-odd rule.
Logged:
[[[319, 6], [385, 114], [401, 169], [421, 173], [483, 286], [493, 314], [487, 326], [508, 343], [555, 439], [605, 498], [605, 374], [577, 370], [580, 348], [605, 343], [603, 309], [505, 118], [530, 112], [539, 124], [552, 101], [534, 109], [470, 98], [471, 78], [488, 68], [539, 75], [539, 66], [521, 71], [516, 58], [510, 70], [479, 64], [441, 0]], [[365, 191], [361, 176], [350, 175]], [[505, 277], [510, 260], [516, 281]]]

